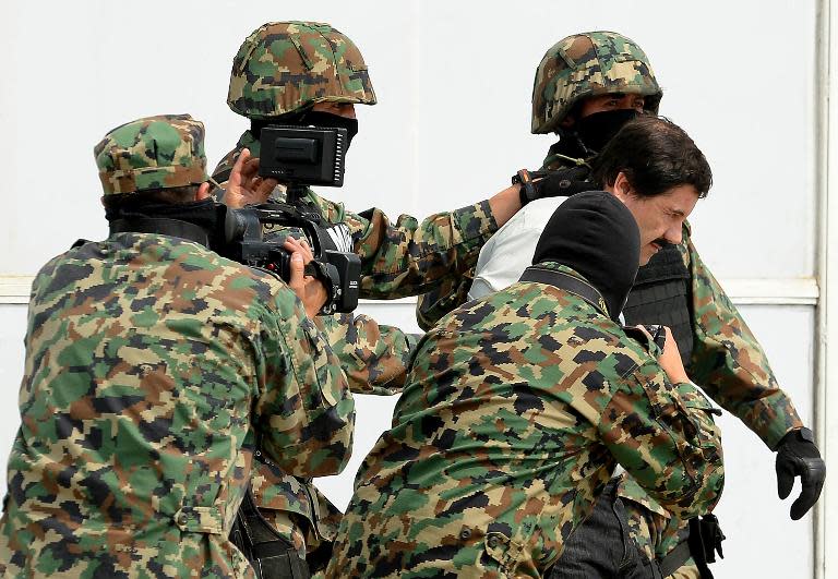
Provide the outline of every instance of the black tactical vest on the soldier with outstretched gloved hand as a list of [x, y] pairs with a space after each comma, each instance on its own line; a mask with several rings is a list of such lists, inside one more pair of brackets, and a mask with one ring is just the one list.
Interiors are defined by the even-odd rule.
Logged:
[[675, 245], [665, 245], [637, 272], [637, 279], [623, 307], [626, 325], [663, 324], [689, 370], [693, 351], [692, 291], [690, 272]]

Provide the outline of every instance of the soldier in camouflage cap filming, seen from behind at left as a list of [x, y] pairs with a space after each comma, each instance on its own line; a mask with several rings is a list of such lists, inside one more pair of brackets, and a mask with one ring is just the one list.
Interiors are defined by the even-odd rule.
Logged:
[[298, 477], [349, 458], [352, 398], [309, 319], [323, 300], [295, 295], [310, 251], [287, 244], [291, 291], [207, 249], [203, 136], [189, 116], [108, 133], [110, 237], [35, 278], [3, 577], [254, 577], [228, 540], [254, 439]]

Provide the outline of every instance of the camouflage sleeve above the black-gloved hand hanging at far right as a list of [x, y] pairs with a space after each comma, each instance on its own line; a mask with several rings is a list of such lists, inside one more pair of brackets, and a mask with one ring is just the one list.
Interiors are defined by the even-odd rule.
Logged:
[[788, 431], [803, 423], [777, 384], [759, 342], [692, 241], [685, 248], [695, 333], [690, 377], [774, 449]]

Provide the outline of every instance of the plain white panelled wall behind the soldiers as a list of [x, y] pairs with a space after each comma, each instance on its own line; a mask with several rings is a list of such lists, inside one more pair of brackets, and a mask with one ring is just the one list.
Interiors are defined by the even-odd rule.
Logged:
[[[247, 126], [225, 104], [232, 57], [253, 28], [292, 19], [331, 22], [370, 67], [379, 105], [358, 107], [346, 186], [321, 191], [351, 210], [375, 205], [392, 218], [422, 218], [484, 198], [518, 168], [536, 168], [553, 141], [529, 134], [536, 65], [568, 34], [614, 29], [645, 49], [665, 91], [661, 113], [686, 129], [714, 168], [715, 186], [691, 221], [716, 276], [729, 288], [813, 277], [814, 2], [283, 4], [0, 5], [0, 281], [33, 275], [76, 238], [106, 236], [92, 149], [109, 129], [189, 112], [206, 124], [211, 165], [219, 160]], [[19, 421], [25, 330], [25, 306], [11, 302], [25, 301], [24, 293], [0, 294], [2, 463]], [[415, 328], [410, 303], [363, 309]], [[811, 422], [814, 306], [742, 311]], [[322, 483], [338, 505], [347, 503], [357, 465], [394, 402], [359, 397], [354, 462]], [[812, 577], [811, 517], [789, 520], [790, 500], [776, 495], [773, 455], [730, 415], [721, 424], [728, 479], [718, 515], [728, 541], [716, 576]]]

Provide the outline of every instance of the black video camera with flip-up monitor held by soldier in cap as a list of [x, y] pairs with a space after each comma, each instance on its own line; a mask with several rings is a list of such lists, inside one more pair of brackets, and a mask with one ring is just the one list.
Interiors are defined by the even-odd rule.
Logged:
[[315, 276], [328, 297], [321, 313], [351, 312], [358, 306], [361, 260], [351, 251], [344, 225], [333, 225], [304, 200], [307, 185], [342, 186], [346, 129], [268, 125], [261, 131], [259, 174], [286, 185], [285, 203], [266, 203], [227, 212], [225, 246], [219, 252], [237, 262], [290, 279], [285, 238], [272, 230], [301, 232], [314, 254], [306, 275]]

